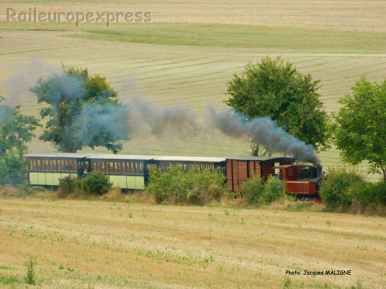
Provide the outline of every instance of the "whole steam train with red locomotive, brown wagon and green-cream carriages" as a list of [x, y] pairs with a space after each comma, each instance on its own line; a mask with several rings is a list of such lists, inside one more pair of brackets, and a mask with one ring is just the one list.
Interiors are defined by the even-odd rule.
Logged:
[[24, 155], [28, 161], [31, 185], [57, 186], [59, 179], [68, 175], [82, 175], [84, 170], [98, 171], [109, 176], [113, 187], [121, 189], [144, 189], [149, 181], [150, 166], [162, 172], [170, 165], [179, 165], [189, 171], [193, 166], [200, 170], [218, 168], [226, 176], [232, 192], [240, 192], [242, 184], [258, 175], [267, 181], [269, 176], [281, 177], [286, 182], [286, 193], [300, 199], [320, 203], [318, 188], [322, 167], [298, 165], [291, 157], [202, 157], [202, 156], [148, 156], [112, 155], [92, 153], [31, 153]]

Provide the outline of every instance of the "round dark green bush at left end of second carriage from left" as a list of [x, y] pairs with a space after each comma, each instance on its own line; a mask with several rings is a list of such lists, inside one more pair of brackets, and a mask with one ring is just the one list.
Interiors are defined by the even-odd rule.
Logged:
[[81, 182], [81, 191], [86, 195], [103, 195], [112, 187], [108, 175], [91, 171]]

